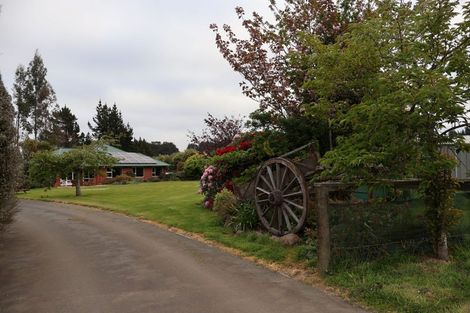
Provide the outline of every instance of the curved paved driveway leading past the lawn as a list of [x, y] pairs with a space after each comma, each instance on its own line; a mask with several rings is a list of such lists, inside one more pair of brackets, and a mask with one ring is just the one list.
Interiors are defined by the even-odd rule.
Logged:
[[23, 201], [0, 239], [0, 312], [363, 312], [153, 225]]

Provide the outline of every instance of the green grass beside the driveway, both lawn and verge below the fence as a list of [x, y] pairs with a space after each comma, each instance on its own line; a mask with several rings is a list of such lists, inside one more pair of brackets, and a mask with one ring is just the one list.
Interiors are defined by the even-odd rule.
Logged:
[[[197, 182], [158, 182], [85, 187], [78, 198], [72, 188], [36, 189], [19, 197], [102, 207], [202, 234], [263, 260], [315, 264], [314, 259], [306, 261], [314, 247], [287, 248], [254, 232], [235, 236], [214, 212], [202, 208], [197, 187]], [[403, 254], [368, 262], [344, 261], [324, 280], [377, 312], [469, 313], [470, 246], [464, 244], [452, 253], [449, 263]]]

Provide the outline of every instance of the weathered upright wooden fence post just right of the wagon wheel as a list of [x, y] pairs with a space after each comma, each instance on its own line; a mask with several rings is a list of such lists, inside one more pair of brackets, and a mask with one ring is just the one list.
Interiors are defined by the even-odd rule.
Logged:
[[320, 272], [328, 272], [331, 258], [330, 221], [328, 217], [328, 186], [315, 186], [317, 202], [317, 240], [318, 240], [318, 268]]

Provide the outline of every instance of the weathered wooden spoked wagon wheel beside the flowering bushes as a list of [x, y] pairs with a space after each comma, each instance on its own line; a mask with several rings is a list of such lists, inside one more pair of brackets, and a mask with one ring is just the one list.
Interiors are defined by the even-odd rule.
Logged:
[[255, 187], [256, 211], [269, 232], [282, 236], [302, 229], [308, 188], [294, 163], [283, 158], [268, 160], [258, 172]]

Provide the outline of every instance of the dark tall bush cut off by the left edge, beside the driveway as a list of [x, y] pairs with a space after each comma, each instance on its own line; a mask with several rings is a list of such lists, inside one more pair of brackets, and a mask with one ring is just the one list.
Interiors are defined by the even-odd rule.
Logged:
[[18, 146], [11, 97], [0, 76], [0, 230], [11, 221], [16, 205]]

